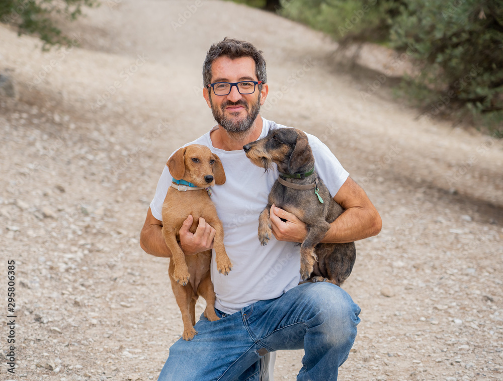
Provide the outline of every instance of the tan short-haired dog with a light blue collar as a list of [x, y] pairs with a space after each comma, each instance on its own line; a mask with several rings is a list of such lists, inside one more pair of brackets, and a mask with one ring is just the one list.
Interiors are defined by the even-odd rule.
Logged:
[[223, 245], [223, 228], [214, 204], [210, 199], [211, 186], [225, 182], [225, 172], [217, 155], [206, 146], [193, 144], [180, 148], [167, 161], [171, 175], [190, 185], [175, 182], [167, 190], [162, 206], [162, 235], [170, 248], [169, 274], [175, 298], [184, 322], [183, 338], [192, 340], [196, 324], [195, 306], [199, 296], [206, 300], [204, 316], [209, 321], [219, 320], [215, 314], [215, 292], [210, 278], [211, 250], [185, 256], [180, 242], [180, 228], [190, 214], [194, 217], [189, 231], [194, 233], [202, 217], [216, 230], [213, 247], [217, 268], [227, 275], [231, 263]]

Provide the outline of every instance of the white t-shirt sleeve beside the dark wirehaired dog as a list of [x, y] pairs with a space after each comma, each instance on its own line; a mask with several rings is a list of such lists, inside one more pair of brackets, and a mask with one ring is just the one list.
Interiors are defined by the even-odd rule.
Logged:
[[333, 197], [348, 179], [349, 173], [341, 165], [337, 157], [316, 136], [306, 134], [309, 145], [313, 151], [316, 172], [325, 183], [330, 195]]

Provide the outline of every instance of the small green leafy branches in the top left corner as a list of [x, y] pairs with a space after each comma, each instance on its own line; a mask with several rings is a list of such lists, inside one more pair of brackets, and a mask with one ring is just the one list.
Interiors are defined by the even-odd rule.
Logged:
[[68, 44], [54, 21], [55, 15], [75, 20], [82, 6], [93, 7], [96, 0], [2, 0], [0, 22], [14, 25], [21, 35], [35, 34], [44, 41], [44, 48], [54, 44]]

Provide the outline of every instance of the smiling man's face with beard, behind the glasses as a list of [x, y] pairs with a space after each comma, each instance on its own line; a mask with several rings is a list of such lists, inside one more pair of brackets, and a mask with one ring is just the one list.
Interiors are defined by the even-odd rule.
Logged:
[[[211, 74], [211, 83], [258, 80], [255, 61], [251, 57], [219, 57], [213, 61]], [[230, 133], [242, 134], [247, 132], [257, 119], [260, 106], [264, 104], [267, 96], [267, 84], [263, 86], [262, 91], [259, 91], [257, 85], [255, 92], [245, 95], [240, 94], [236, 86], [232, 86], [226, 96], [217, 96], [213, 90], [208, 91], [208, 88], [204, 89], [203, 94], [217, 123]]]

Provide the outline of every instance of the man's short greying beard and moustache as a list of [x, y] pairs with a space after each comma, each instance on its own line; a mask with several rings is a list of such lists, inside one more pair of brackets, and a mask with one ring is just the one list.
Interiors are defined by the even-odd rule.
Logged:
[[[260, 96], [261, 94], [259, 93], [257, 102], [251, 105], [251, 107], [246, 101], [240, 100], [238, 102], [224, 102], [220, 106], [220, 109], [213, 104], [210, 97], [211, 113], [213, 114], [213, 118], [215, 118], [215, 121], [229, 133], [230, 137], [236, 139], [243, 138], [251, 133], [251, 126], [254, 125], [255, 120], [259, 115]], [[242, 118], [238, 117], [239, 113], [230, 113], [226, 115], [225, 108], [227, 106], [243, 106], [246, 109], [247, 114]]]

